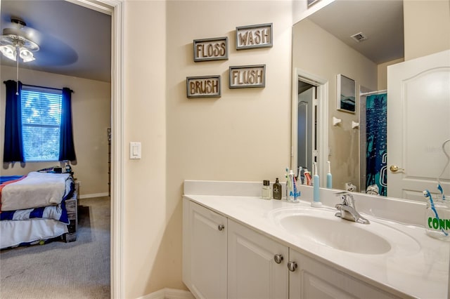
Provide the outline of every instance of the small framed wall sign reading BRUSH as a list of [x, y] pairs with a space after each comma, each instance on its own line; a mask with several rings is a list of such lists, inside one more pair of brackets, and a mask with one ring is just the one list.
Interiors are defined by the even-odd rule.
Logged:
[[188, 98], [219, 98], [220, 91], [220, 75], [186, 77]]

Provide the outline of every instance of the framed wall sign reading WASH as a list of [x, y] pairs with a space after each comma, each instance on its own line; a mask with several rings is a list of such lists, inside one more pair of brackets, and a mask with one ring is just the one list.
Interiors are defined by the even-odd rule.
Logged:
[[236, 50], [270, 48], [272, 27], [272, 23], [236, 27]]

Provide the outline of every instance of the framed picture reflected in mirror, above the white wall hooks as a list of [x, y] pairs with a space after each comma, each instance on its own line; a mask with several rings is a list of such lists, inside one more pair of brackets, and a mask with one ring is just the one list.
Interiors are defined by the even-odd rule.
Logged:
[[336, 77], [337, 109], [343, 112], [356, 112], [356, 83], [353, 79], [338, 74]]

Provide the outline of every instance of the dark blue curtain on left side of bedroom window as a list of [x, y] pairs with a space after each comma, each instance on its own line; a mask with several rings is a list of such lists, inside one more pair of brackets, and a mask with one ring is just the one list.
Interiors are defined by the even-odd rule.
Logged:
[[25, 159], [23, 156], [22, 107], [20, 104], [22, 83], [19, 81], [17, 84], [13, 80], [4, 83], [6, 85], [6, 113], [3, 161], [6, 163], [23, 162]]

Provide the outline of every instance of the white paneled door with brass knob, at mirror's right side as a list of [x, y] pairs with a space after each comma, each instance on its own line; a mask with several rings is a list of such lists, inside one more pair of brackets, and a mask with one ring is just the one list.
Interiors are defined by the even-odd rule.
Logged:
[[[423, 190], [439, 194], [437, 178], [447, 162], [450, 51], [387, 67], [387, 95], [387, 195], [426, 201]], [[450, 166], [440, 181], [450, 194]]]

